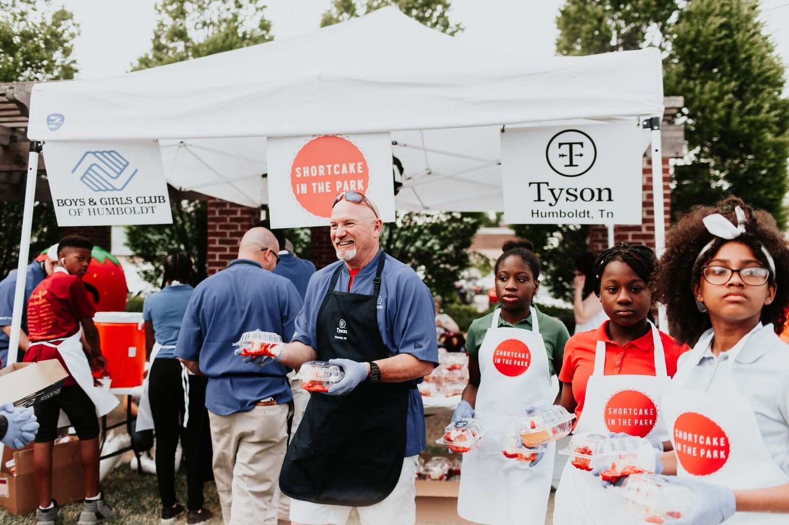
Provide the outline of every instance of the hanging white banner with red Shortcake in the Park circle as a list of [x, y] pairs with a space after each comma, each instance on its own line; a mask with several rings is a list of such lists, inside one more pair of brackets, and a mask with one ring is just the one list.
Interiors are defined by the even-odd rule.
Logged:
[[350, 191], [394, 221], [389, 133], [272, 137], [266, 157], [272, 228], [328, 225], [335, 196]]

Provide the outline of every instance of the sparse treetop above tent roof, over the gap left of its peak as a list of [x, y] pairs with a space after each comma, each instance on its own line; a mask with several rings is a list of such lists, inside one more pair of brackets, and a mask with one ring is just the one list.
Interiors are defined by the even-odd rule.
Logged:
[[161, 0], [151, 52], [134, 69], [268, 42], [273, 37], [265, 8], [259, 0]]

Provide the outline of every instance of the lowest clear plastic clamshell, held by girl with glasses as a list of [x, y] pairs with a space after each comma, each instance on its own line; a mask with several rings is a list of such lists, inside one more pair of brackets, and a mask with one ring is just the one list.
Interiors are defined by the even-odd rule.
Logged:
[[646, 523], [666, 523], [679, 519], [694, 502], [693, 492], [686, 486], [673, 485], [665, 476], [637, 474], [628, 477], [619, 487], [628, 512]]

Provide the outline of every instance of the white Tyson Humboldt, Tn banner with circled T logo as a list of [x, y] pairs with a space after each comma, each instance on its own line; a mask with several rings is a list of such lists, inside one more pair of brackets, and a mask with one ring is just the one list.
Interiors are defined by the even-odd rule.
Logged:
[[501, 135], [504, 221], [641, 224], [645, 148], [637, 122], [507, 128]]

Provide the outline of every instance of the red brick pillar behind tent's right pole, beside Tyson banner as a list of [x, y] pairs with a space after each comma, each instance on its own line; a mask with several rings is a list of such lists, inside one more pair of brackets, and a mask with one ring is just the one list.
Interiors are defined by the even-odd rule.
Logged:
[[[668, 158], [663, 159], [663, 208], [664, 222], [668, 229], [671, 222], [671, 189]], [[652, 191], [652, 159], [644, 158], [641, 167], [641, 224], [615, 225], [614, 241], [618, 243], [646, 244], [655, 248], [655, 206]], [[608, 248], [608, 228], [592, 225], [589, 228], [589, 251], [599, 253]]]

